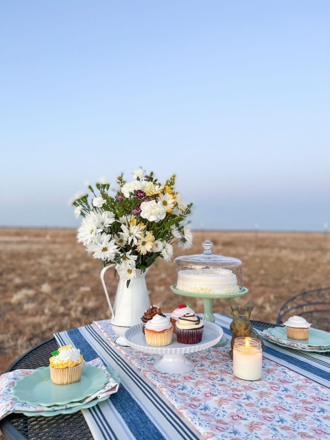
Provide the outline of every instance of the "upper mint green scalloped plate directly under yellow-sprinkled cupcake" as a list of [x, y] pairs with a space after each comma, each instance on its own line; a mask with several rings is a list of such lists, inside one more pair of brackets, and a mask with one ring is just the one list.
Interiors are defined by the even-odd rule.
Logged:
[[55, 385], [50, 379], [49, 367], [44, 367], [16, 382], [11, 392], [21, 403], [42, 406], [66, 405], [97, 393], [107, 381], [104, 371], [84, 365], [79, 382]]

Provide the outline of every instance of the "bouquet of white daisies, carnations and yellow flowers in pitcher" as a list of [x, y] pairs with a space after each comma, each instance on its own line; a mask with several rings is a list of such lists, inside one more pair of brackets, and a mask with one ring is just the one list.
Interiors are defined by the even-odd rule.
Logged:
[[164, 185], [153, 172], [146, 175], [141, 168], [133, 176], [130, 182], [118, 176], [119, 188], [112, 195], [109, 182], [100, 179], [95, 188], [88, 185], [90, 202], [88, 194], [72, 201], [76, 216], [84, 218], [78, 241], [104, 265], [115, 264], [127, 287], [136, 270], [145, 272], [158, 257], [170, 261], [174, 242], [183, 249], [192, 245], [192, 233], [184, 223], [192, 203], [181, 201], [175, 189], [176, 176]]

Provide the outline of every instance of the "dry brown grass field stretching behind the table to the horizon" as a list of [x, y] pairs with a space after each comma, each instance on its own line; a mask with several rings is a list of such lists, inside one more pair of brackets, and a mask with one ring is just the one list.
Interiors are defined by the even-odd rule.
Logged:
[[[185, 253], [200, 253], [206, 239], [214, 253], [242, 260], [248, 298], [256, 303], [252, 319], [272, 322], [290, 296], [330, 285], [323, 234], [262, 232], [257, 238], [254, 232], [197, 231]], [[151, 303], [171, 311], [185, 300], [169, 288], [176, 281], [174, 263], [158, 260], [146, 277]], [[101, 268], [76, 242], [73, 229], [0, 229], [0, 373], [54, 332], [110, 317]], [[113, 295], [116, 284], [109, 276]], [[188, 302], [202, 311], [201, 300]], [[228, 302], [215, 301], [215, 310], [229, 313]]]

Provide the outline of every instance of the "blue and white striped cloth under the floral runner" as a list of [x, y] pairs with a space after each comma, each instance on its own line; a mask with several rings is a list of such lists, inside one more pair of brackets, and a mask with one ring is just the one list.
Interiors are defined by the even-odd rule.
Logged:
[[[216, 314], [216, 322], [231, 338], [230, 317]], [[120, 375], [119, 391], [110, 399], [83, 410], [94, 439], [200, 439], [201, 434], [163, 397], [123, 354], [110, 345], [94, 324], [55, 334], [59, 346], [73, 344], [85, 360], [100, 357]], [[302, 353], [265, 344], [264, 357], [314, 382], [330, 387], [330, 356]]]

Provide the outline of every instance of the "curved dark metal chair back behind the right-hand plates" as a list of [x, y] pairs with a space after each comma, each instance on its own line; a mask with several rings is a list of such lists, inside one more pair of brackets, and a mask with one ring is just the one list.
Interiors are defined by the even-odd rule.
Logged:
[[293, 315], [303, 316], [314, 329], [330, 331], [330, 287], [307, 290], [288, 299], [280, 308], [277, 325]]

